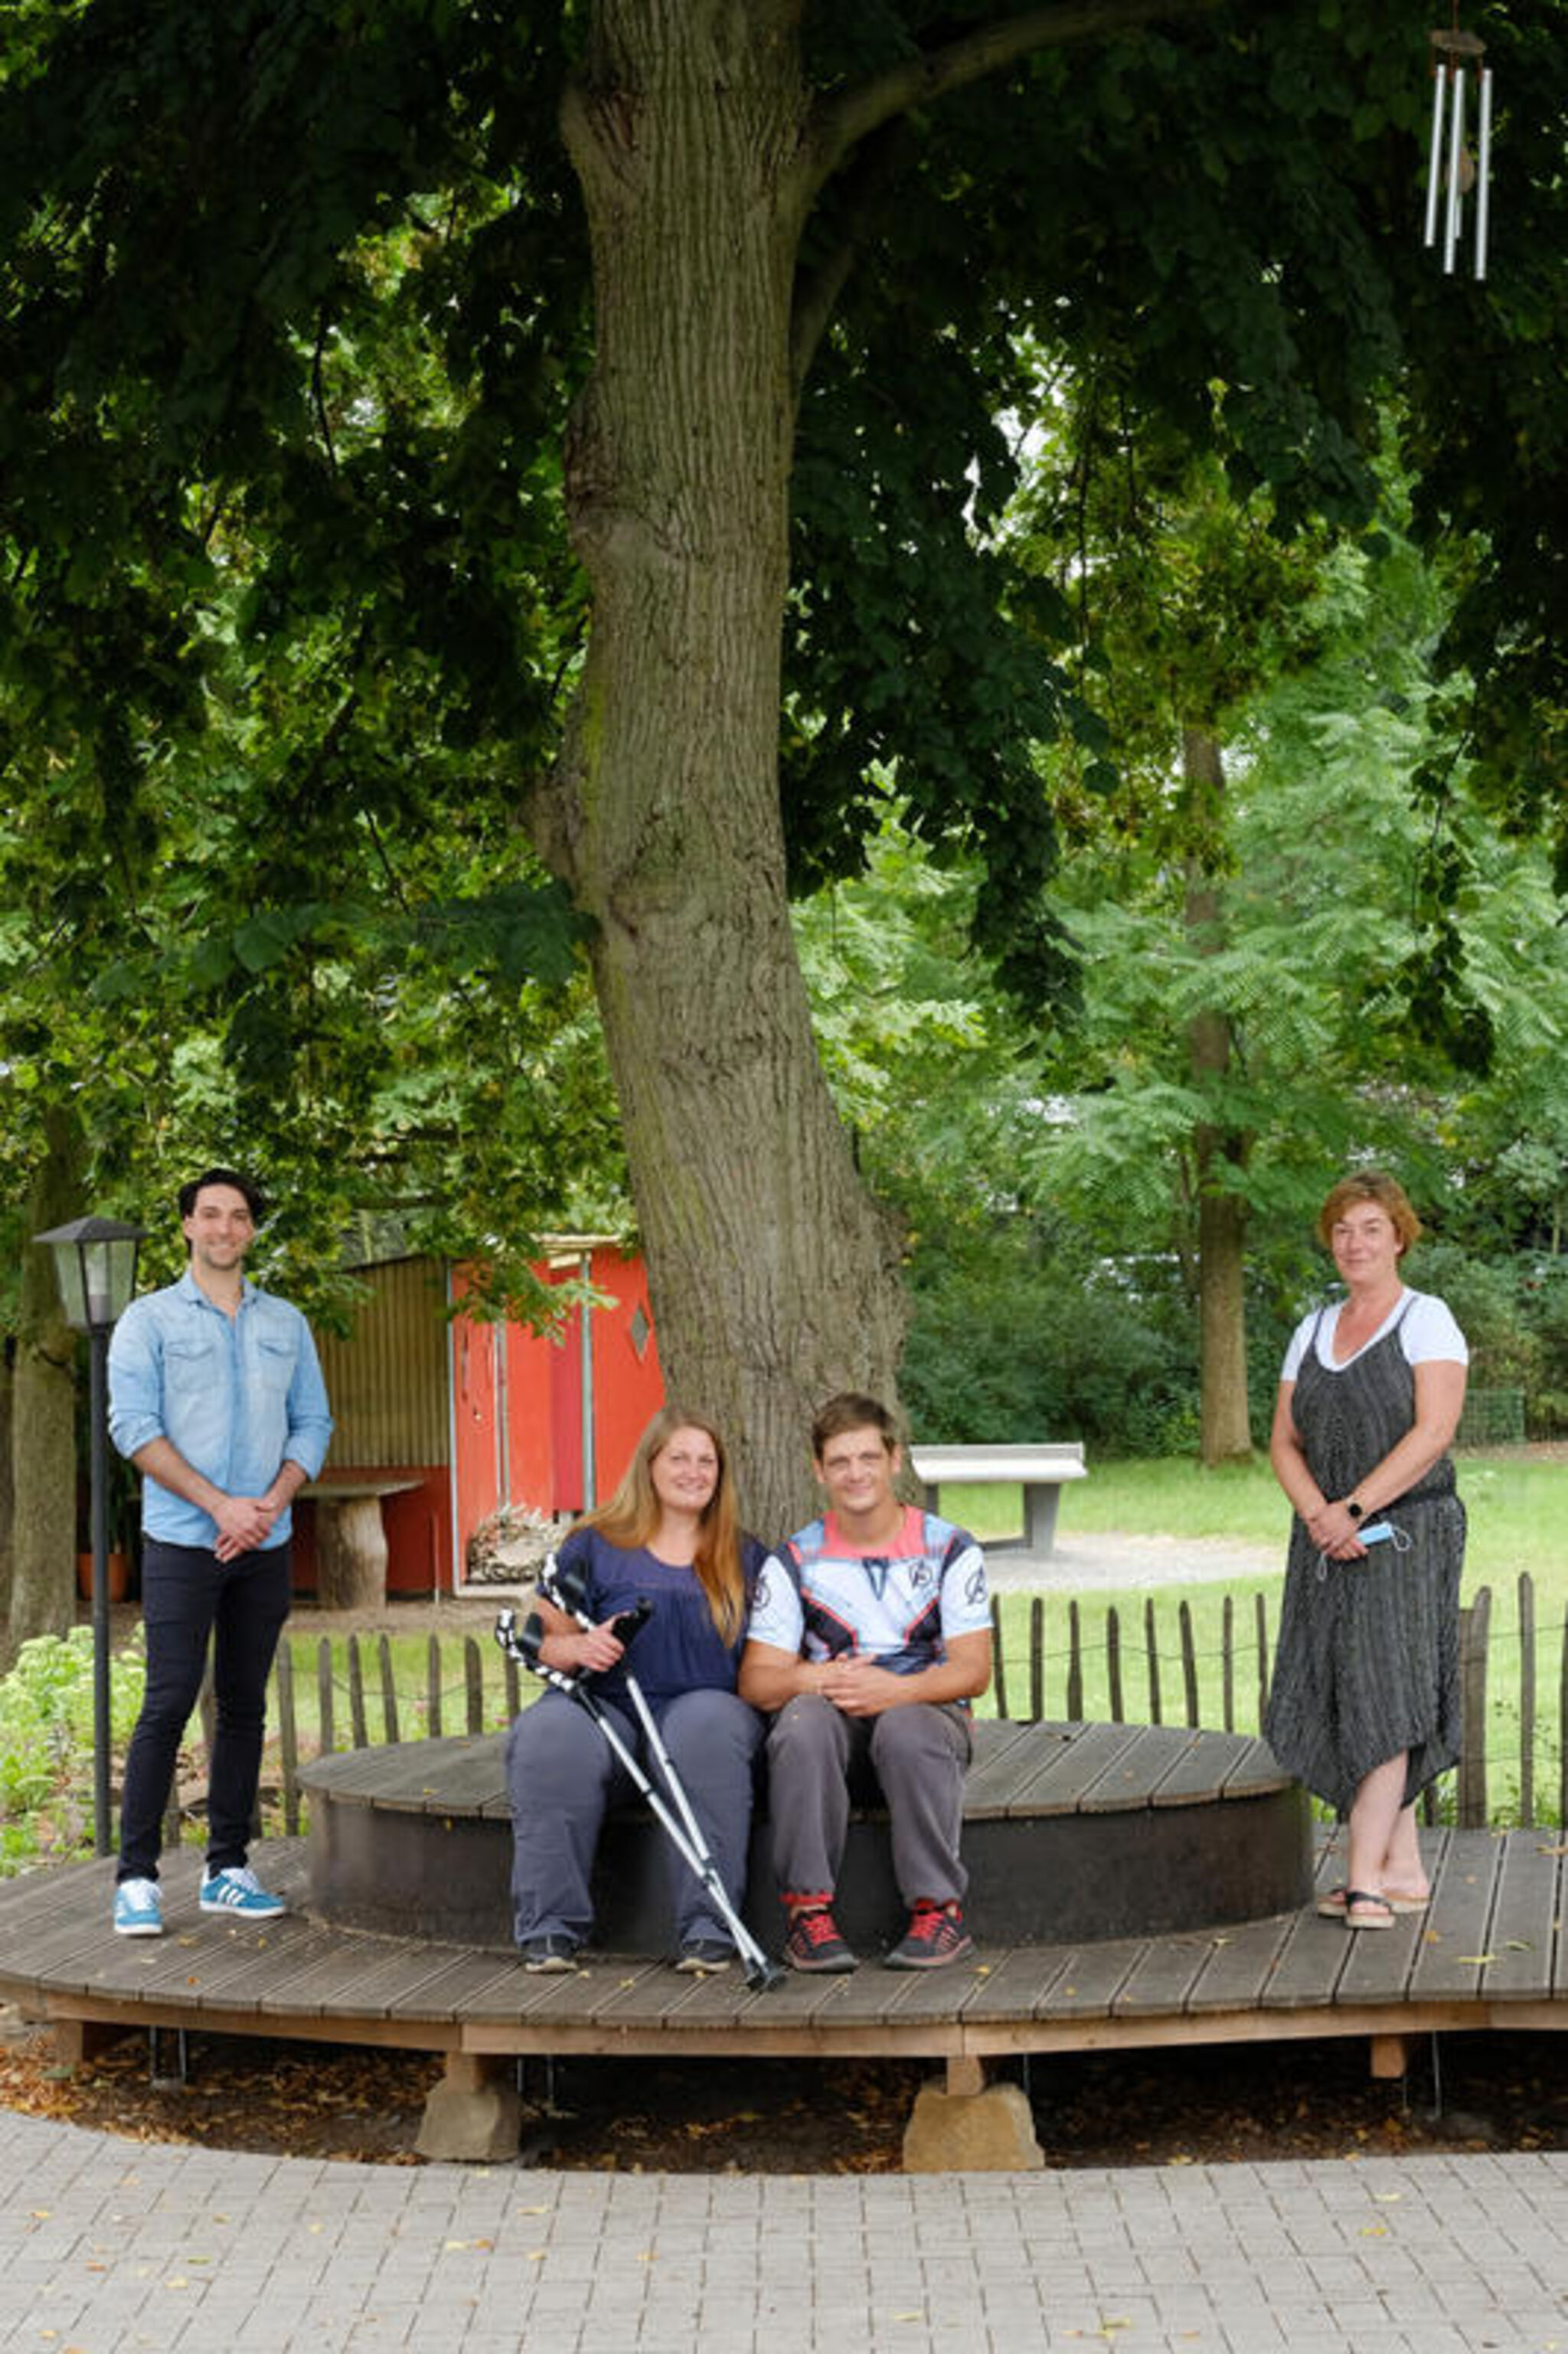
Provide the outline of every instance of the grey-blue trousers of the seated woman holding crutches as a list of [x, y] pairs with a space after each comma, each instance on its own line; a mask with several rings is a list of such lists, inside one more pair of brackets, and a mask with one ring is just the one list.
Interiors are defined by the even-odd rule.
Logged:
[[[645, 1751], [636, 1718], [600, 1702], [614, 1718], [650, 1782], [659, 1770]], [[763, 1747], [763, 1718], [735, 1693], [678, 1693], [655, 1707], [655, 1718], [680, 1787], [718, 1867], [718, 1878], [739, 1911], [746, 1893], [746, 1843], [751, 1838], [753, 1761]], [[593, 1928], [593, 1850], [605, 1808], [636, 1796], [633, 1782], [586, 1709], [565, 1693], [542, 1693], [532, 1709], [513, 1718], [506, 1735], [506, 1789], [511, 1796], [511, 1902], [518, 1944], [525, 1937], [577, 1937]], [[678, 1820], [678, 1810], [676, 1810]], [[657, 1831], [669, 1857], [676, 1944], [692, 1937], [730, 1942], [702, 1881], [680, 1862], [673, 1841]]]

